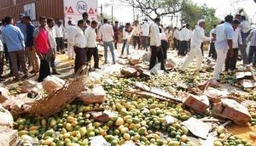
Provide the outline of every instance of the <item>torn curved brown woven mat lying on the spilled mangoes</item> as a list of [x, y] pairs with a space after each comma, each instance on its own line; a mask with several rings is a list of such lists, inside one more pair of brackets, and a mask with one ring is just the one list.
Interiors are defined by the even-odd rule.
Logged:
[[77, 98], [78, 93], [84, 91], [88, 70], [88, 65], [84, 66], [73, 79], [66, 81], [64, 86], [55, 93], [46, 98], [40, 98], [33, 103], [24, 104], [23, 114], [47, 117], [60, 112], [67, 104]]

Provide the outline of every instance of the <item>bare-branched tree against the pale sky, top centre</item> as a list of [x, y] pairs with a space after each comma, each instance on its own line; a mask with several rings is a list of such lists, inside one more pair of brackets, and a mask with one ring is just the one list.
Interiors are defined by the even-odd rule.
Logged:
[[167, 14], [176, 14], [183, 8], [186, 0], [120, 0], [129, 3], [133, 8], [139, 9], [145, 16], [154, 20]]

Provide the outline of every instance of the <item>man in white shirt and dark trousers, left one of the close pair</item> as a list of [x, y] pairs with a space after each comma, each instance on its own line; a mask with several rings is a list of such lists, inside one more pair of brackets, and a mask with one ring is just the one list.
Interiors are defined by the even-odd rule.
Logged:
[[86, 64], [86, 58], [85, 58], [86, 39], [85, 39], [83, 30], [84, 30], [84, 20], [79, 20], [78, 27], [71, 34], [71, 38], [72, 38], [71, 42], [73, 45], [73, 50], [76, 54], [75, 61], [74, 61], [75, 73], [78, 73], [79, 69]]

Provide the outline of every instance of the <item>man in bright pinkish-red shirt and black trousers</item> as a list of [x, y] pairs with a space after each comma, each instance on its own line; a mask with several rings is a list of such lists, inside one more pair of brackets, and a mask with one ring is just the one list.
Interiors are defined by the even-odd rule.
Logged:
[[40, 26], [34, 31], [34, 47], [37, 50], [40, 59], [40, 69], [38, 81], [43, 81], [45, 77], [50, 75], [49, 70], [49, 31], [47, 31], [47, 20], [45, 17], [39, 18]]

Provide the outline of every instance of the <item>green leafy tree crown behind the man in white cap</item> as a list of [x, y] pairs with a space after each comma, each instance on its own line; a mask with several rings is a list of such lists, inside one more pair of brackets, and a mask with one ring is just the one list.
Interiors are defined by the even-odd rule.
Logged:
[[189, 24], [191, 27], [197, 25], [197, 21], [206, 20], [206, 32], [211, 31], [213, 25], [217, 25], [219, 20], [215, 16], [215, 9], [208, 8], [207, 5], [198, 6], [195, 3], [184, 3], [181, 12], [181, 23]]

